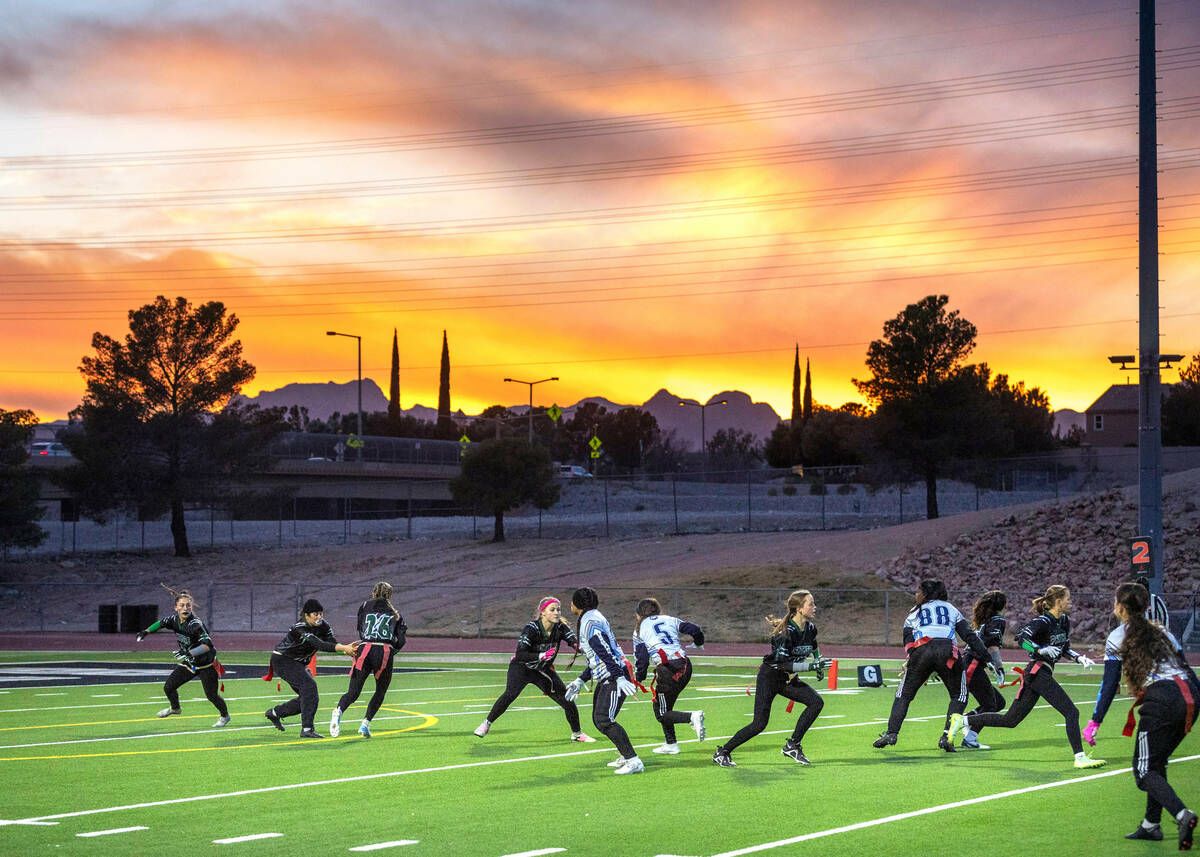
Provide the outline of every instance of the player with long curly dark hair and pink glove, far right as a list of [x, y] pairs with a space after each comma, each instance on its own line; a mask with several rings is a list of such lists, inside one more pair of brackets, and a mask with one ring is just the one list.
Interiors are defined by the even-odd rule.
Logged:
[[[1112, 613], [1121, 625], [1109, 634], [1104, 646], [1104, 681], [1096, 697], [1096, 709], [1084, 730], [1084, 741], [1096, 745], [1096, 732], [1108, 713], [1124, 676], [1129, 693], [1141, 706], [1138, 737], [1134, 741], [1133, 777], [1146, 792], [1146, 815], [1126, 839], [1163, 838], [1160, 822], [1165, 809], [1178, 825], [1180, 850], [1192, 847], [1198, 816], [1166, 781], [1166, 762], [1183, 736], [1192, 729], [1200, 682], [1183, 658], [1183, 652], [1170, 631], [1146, 618], [1150, 591], [1139, 583], [1117, 587]], [[1133, 732], [1133, 708], [1126, 724], [1126, 735]]]

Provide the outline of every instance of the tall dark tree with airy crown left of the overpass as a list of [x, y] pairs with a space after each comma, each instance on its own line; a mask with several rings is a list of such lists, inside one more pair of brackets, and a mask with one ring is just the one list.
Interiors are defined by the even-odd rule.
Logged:
[[[164, 501], [178, 557], [191, 556], [184, 521], [190, 484], [208, 475], [192, 469], [200, 435], [254, 377], [233, 338], [236, 328], [238, 317], [220, 301], [193, 307], [158, 295], [130, 311], [125, 342], [96, 332], [95, 355], [80, 361], [86, 392], [73, 414], [82, 431], [64, 437], [79, 460], [74, 475], [92, 485], [110, 478], [148, 503]], [[103, 503], [118, 501], [107, 493]], [[100, 501], [103, 493], [89, 496]]]

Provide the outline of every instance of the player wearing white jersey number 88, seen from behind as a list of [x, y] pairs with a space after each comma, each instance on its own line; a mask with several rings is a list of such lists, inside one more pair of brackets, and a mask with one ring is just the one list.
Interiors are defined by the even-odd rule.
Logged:
[[[892, 701], [888, 727], [875, 739], [874, 747], [896, 743], [908, 705], [935, 672], [950, 695], [948, 713], [952, 718], [962, 718], [962, 711], [967, 707], [967, 689], [962, 682], [962, 663], [954, 648], [955, 634], [971, 647], [976, 658], [988, 669], [994, 669], [979, 635], [971, 630], [962, 613], [947, 598], [946, 585], [940, 580], [923, 580], [917, 588], [917, 603], [904, 621], [904, 648], [907, 653], [904, 679]], [[947, 731], [942, 732], [937, 745], [947, 753], [954, 753], [954, 741]]]

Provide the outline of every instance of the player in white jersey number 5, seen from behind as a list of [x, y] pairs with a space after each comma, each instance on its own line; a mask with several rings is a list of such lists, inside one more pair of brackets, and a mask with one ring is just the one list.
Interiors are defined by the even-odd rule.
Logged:
[[704, 712], [674, 711], [676, 700], [691, 681], [691, 659], [679, 641], [686, 634], [697, 646], [704, 645], [704, 631], [700, 625], [684, 622], [674, 616], [664, 616], [659, 603], [643, 598], [637, 603], [637, 631], [634, 633], [634, 661], [636, 678], [646, 681], [646, 673], [654, 667], [654, 718], [662, 725], [662, 747], [654, 751], [667, 755], [679, 753], [674, 727], [677, 723], [689, 723], [696, 737], [704, 739]]

